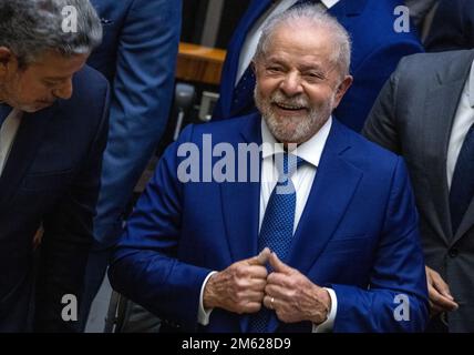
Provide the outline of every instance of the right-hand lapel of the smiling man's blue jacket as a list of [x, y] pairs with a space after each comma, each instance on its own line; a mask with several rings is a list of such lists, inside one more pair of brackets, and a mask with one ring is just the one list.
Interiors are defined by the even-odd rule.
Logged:
[[[288, 258], [288, 264], [302, 274], [315, 265], [333, 236], [362, 178], [362, 172], [343, 159], [349, 149], [346, 133], [334, 120]], [[276, 331], [278, 324], [272, 316], [269, 331]]]

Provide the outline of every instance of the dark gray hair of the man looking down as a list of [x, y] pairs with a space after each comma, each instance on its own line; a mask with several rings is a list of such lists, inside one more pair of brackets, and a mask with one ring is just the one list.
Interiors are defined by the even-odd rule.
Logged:
[[[75, 32], [63, 31], [65, 7], [78, 13]], [[17, 57], [20, 67], [45, 50], [64, 57], [90, 53], [102, 41], [102, 24], [89, 0], [0, 0], [0, 47]]]

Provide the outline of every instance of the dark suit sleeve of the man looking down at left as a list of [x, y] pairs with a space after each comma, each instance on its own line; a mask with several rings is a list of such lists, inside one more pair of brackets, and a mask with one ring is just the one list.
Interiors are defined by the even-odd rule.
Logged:
[[97, 91], [96, 95], [99, 108], [96, 111], [91, 109], [91, 112], [97, 112], [95, 122], [99, 123], [90, 149], [69, 190], [44, 217], [35, 287], [34, 329], [38, 332], [79, 332], [78, 322], [64, 322], [62, 318], [62, 310], [66, 305], [62, 297], [78, 297], [82, 292], [85, 263], [93, 241], [92, 222], [109, 131], [109, 87], [103, 87], [104, 91]]

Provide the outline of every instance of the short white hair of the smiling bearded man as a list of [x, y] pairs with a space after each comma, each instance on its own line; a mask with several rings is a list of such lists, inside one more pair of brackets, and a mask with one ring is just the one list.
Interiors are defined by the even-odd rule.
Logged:
[[291, 8], [268, 20], [264, 26], [254, 60], [258, 61], [266, 55], [271, 37], [278, 27], [295, 26], [302, 22], [309, 23], [313, 28], [326, 29], [330, 33], [334, 47], [332, 51], [333, 58], [330, 60], [339, 67], [342, 77], [349, 74], [351, 40], [348, 31], [346, 31], [336, 18], [313, 4]]

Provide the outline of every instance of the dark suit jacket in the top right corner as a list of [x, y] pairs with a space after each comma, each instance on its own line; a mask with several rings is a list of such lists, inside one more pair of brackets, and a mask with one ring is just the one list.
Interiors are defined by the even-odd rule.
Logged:
[[427, 52], [474, 48], [474, 2], [441, 0], [425, 40]]

